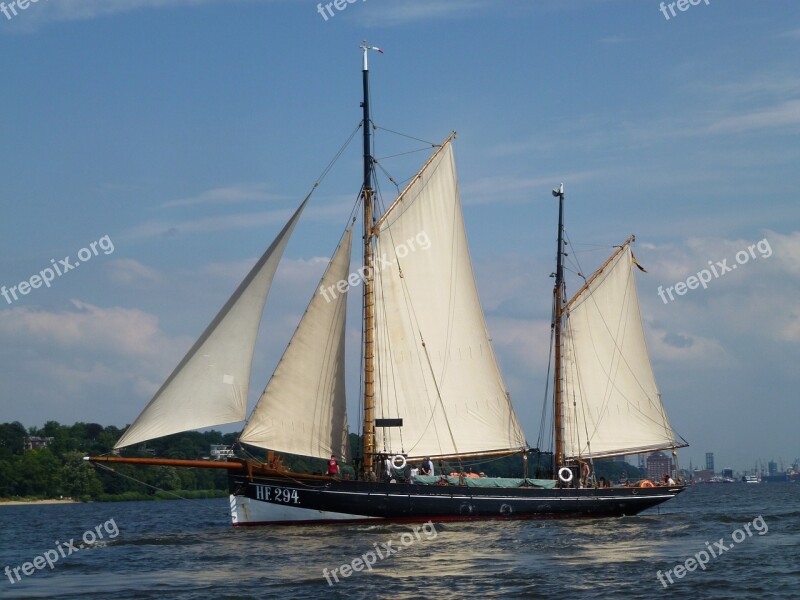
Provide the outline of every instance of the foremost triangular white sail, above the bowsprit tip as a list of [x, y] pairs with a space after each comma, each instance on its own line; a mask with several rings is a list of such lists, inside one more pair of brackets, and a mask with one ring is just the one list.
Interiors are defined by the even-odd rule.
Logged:
[[272, 278], [306, 199], [115, 448], [243, 421], [256, 335]]

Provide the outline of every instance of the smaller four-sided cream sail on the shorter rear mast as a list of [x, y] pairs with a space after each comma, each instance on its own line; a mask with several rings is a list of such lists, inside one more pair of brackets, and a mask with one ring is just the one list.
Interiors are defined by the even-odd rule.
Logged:
[[626, 244], [567, 309], [562, 373], [568, 458], [684, 445], [658, 393], [632, 265]]

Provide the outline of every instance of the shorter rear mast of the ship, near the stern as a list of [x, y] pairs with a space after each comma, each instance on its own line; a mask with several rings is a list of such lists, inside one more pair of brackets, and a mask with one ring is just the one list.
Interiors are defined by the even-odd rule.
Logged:
[[564, 403], [561, 377], [561, 326], [566, 289], [564, 286], [564, 184], [553, 190], [558, 198], [558, 249], [556, 251], [556, 283], [553, 287], [553, 332], [555, 342], [555, 373], [553, 375], [553, 427], [555, 429], [554, 472], [564, 466]]

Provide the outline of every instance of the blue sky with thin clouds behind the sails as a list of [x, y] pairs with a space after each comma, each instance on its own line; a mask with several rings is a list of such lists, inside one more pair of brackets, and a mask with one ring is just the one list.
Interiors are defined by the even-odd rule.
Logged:
[[[366, 39], [384, 50], [370, 57], [382, 168], [403, 181], [458, 132], [477, 284], [528, 441], [546, 383], [550, 190], [564, 182], [571, 269], [591, 273], [637, 237], [656, 379], [691, 444], [681, 465], [714, 452], [718, 469], [788, 466], [800, 457], [800, 5], [668, 4], [363, 0], [323, 16], [310, 0], [39, 0], [0, 12], [0, 286], [87, 259], [0, 297], [0, 422], [135, 419], [355, 130]], [[289, 242], [251, 406], [347, 225], [360, 161], [356, 138]], [[380, 186], [388, 204], [393, 185]], [[705, 288], [689, 280], [712, 268]], [[353, 431], [358, 340], [351, 317]]]

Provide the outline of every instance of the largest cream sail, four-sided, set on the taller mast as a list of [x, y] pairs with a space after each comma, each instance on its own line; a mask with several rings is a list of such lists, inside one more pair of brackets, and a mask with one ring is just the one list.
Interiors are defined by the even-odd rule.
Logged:
[[378, 223], [376, 450], [412, 457], [517, 449], [511, 406], [472, 272], [452, 146]]

